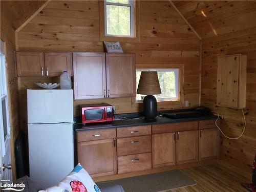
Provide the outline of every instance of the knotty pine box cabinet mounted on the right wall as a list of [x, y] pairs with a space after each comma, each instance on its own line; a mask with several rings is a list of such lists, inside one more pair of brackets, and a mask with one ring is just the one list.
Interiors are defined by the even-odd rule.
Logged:
[[217, 105], [245, 108], [246, 56], [218, 57]]

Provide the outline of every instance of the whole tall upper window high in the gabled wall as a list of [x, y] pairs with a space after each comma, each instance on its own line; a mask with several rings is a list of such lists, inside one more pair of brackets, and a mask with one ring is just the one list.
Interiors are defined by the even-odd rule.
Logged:
[[134, 37], [134, 1], [104, 1], [105, 36]]

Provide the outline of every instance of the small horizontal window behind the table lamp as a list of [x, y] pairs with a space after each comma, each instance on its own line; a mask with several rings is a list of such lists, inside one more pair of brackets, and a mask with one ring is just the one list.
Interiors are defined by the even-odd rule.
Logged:
[[[136, 90], [141, 71], [157, 71], [161, 94], [154, 95], [157, 101], [179, 100], [179, 69], [138, 69], [136, 70]], [[136, 94], [136, 100], [141, 101], [145, 95]]]

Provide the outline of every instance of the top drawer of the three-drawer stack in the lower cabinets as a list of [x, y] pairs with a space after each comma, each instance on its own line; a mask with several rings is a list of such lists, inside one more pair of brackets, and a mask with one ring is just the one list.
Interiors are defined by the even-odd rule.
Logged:
[[151, 135], [151, 125], [117, 128], [117, 138]]

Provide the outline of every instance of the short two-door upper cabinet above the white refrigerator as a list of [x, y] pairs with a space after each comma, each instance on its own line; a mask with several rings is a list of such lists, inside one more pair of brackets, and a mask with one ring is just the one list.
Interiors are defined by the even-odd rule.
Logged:
[[59, 76], [72, 72], [71, 53], [54, 52], [16, 52], [17, 75], [22, 76]]

